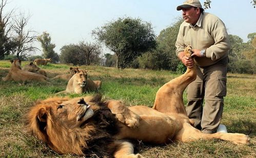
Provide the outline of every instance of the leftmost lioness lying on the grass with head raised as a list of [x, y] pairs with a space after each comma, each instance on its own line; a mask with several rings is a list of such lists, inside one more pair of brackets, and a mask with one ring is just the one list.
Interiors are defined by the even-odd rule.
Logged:
[[3, 77], [3, 81], [42, 81], [47, 82], [48, 78], [42, 74], [37, 74], [29, 71], [24, 71], [21, 68], [21, 60], [12, 60], [11, 68], [9, 69], [6, 77]]

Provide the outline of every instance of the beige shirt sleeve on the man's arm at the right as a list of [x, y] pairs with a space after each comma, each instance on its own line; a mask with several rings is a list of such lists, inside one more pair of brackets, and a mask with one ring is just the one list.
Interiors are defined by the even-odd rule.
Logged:
[[214, 44], [206, 49], [206, 57], [212, 61], [220, 59], [230, 49], [230, 42], [224, 23], [218, 19], [212, 28]]

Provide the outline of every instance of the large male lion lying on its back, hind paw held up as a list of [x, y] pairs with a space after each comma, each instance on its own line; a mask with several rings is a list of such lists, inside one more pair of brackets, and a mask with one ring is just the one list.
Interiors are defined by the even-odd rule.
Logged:
[[[190, 57], [191, 47], [186, 47], [185, 55]], [[29, 110], [27, 129], [58, 153], [95, 157], [143, 157], [133, 153], [127, 140], [165, 144], [221, 139], [248, 144], [245, 134], [206, 134], [191, 125], [183, 92], [195, 77], [196, 68], [187, 68], [183, 75], [164, 84], [156, 93], [153, 108], [127, 108], [120, 101], [104, 101], [99, 95], [49, 98]]]

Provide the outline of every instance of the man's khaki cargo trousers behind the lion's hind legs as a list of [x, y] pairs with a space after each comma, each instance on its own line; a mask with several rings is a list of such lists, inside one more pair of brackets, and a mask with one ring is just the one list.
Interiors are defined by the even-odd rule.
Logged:
[[214, 65], [198, 67], [196, 80], [188, 85], [186, 111], [194, 126], [204, 133], [215, 133], [221, 122], [223, 97], [227, 93], [227, 60], [224, 58]]

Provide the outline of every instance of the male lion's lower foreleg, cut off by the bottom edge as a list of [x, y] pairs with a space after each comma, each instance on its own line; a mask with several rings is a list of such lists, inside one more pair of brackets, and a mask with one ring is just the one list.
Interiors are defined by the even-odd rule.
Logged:
[[115, 158], [143, 158], [141, 154], [133, 153], [133, 145], [130, 142], [118, 141], [116, 144], [117, 149], [114, 152]]

